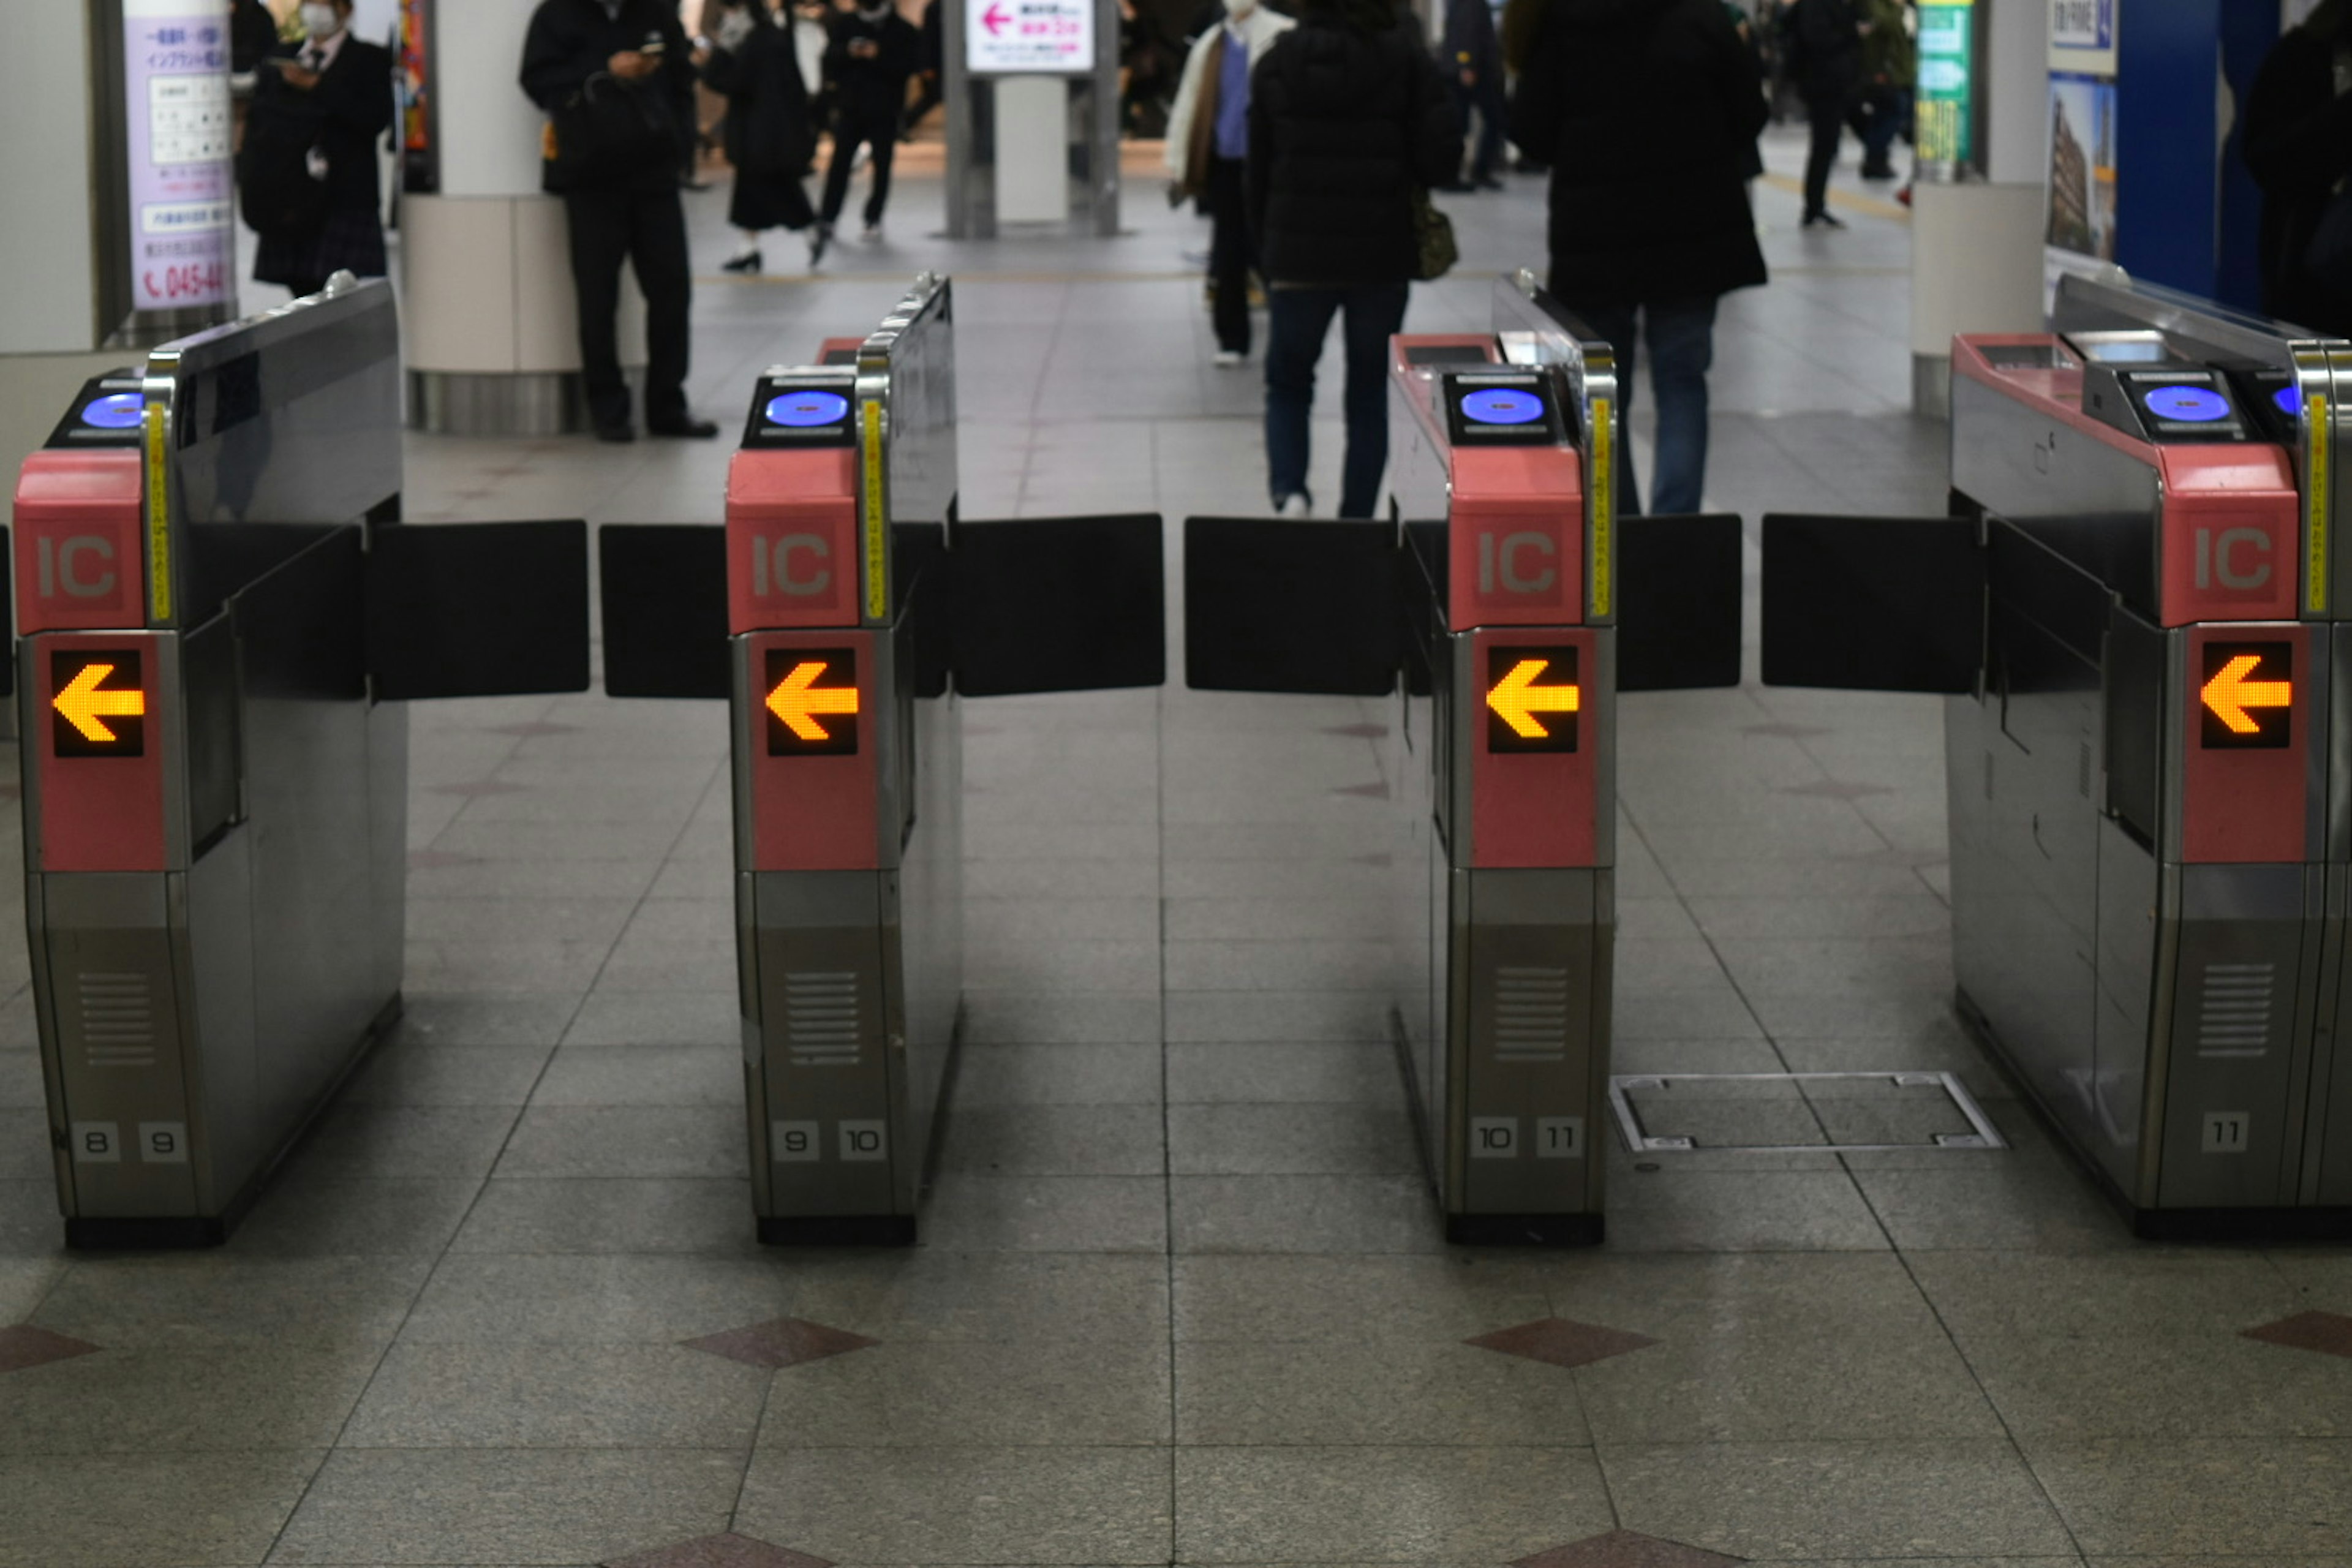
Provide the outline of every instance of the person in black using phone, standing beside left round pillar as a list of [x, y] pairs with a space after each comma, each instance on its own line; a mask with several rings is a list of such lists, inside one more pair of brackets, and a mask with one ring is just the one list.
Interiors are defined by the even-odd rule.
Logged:
[[548, 113], [543, 183], [564, 197], [581, 371], [597, 440], [635, 440], [621, 376], [621, 263], [644, 292], [644, 428], [710, 440], [687, 411], [694, 270], [677, 190], [677, 80], [694, 75], [668, 0], [539, 0], [522, 89]]

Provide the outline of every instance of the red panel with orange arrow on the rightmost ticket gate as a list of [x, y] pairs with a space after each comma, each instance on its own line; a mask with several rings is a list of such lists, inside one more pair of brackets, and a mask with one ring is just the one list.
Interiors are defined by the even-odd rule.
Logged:
[[2277, 865], [2307, 858], [2312, 646], [2296, 625], [2190, 630], [2183, 682], [2180, 858]]

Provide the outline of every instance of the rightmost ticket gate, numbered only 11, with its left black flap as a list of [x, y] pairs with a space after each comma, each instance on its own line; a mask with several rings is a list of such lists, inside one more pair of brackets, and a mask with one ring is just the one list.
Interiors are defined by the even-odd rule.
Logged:
[[1952, 517], [1764, 520], [1764, 679], [1943, 691], [1962, 1018], [2140, 1237], [2352, 1232], [2352, 343], [1952, 348]]

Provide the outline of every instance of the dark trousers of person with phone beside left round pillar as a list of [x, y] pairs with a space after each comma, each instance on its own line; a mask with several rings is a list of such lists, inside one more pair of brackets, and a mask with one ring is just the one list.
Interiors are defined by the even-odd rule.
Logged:
[[687, 212], [677, 181], [659, 186], [572, 190], [572, 284], [581, 299], [581, 374], [588, 416], [600, 430], [628, 423], [628, 381], [621, 378], [621, 263], [637, 263], [644, 292], [644, 418], [687, 416], [687, 315], [694, 270], [687, 261]]

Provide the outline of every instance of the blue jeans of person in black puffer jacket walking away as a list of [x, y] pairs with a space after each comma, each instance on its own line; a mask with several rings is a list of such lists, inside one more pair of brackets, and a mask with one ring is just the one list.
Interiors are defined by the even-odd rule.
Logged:
[[1308, 411], [1315, 407], [1315, 362], [1345, 313], [1348, 343], [1348, 463], [1338, 515], [1371, 517], [1388, 468], [1388, 339], [1404, 329], [1411, 284], [1374, 282], [1345, 289], [1265, 292], [1265, 475], [1282, 505], [1308, 494]]

